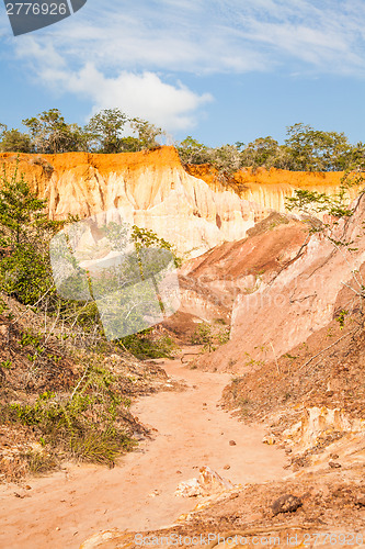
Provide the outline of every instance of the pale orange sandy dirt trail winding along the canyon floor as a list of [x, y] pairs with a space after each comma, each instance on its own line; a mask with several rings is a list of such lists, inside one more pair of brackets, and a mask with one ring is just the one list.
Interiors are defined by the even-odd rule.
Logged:
[[179, 482], [197, 477], [202, 466], [241, 484], [283, 477], [284, 452], [261, 442], [262, 427], [244, 426], [217, 406], [229, 374], [191, 370], [180, 360], [161, 365], [169, 376], [185, 380], [187, 390], [146, 396], [134, 405], [139, 419], [158, 429], [156, 438], [141, 441], [112, 470], [72, 466], [31, 479], [32, 490], [2, 486], [1, 549], [77, 549], [111, 527], [168, 526], [195, 506], [196, 500], [176, 497], [174, 491]]

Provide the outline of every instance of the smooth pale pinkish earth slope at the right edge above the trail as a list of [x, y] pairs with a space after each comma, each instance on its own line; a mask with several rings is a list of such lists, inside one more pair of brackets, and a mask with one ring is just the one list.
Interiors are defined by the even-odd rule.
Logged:
[[334, 226], [332, 234], [334, 240], [354, 242], [356, 247], [350, 250], [315, 234], [273, 280], [250, 294], [241, 293], [232, 311], [231, 340], [209, 357], [212, 367], [228, 369], [229, 360], [237, 371], [244, 371], [248, 358], [260, 360], [263, 350], [266, 359], [290, 351], [331, 322], [345, 284], [358, 304], [362, 279], [356, 270], [365, 260], [364, 220], [362, 197], [354, 215]]

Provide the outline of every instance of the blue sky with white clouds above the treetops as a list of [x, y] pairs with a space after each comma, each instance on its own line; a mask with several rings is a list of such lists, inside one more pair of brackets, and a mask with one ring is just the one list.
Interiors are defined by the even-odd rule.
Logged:
[[88, 0], [13, 37], [0, 5], [0, 122], [118, 107], [217, 146], [296, 122], [365, 142], [364, 0]]

